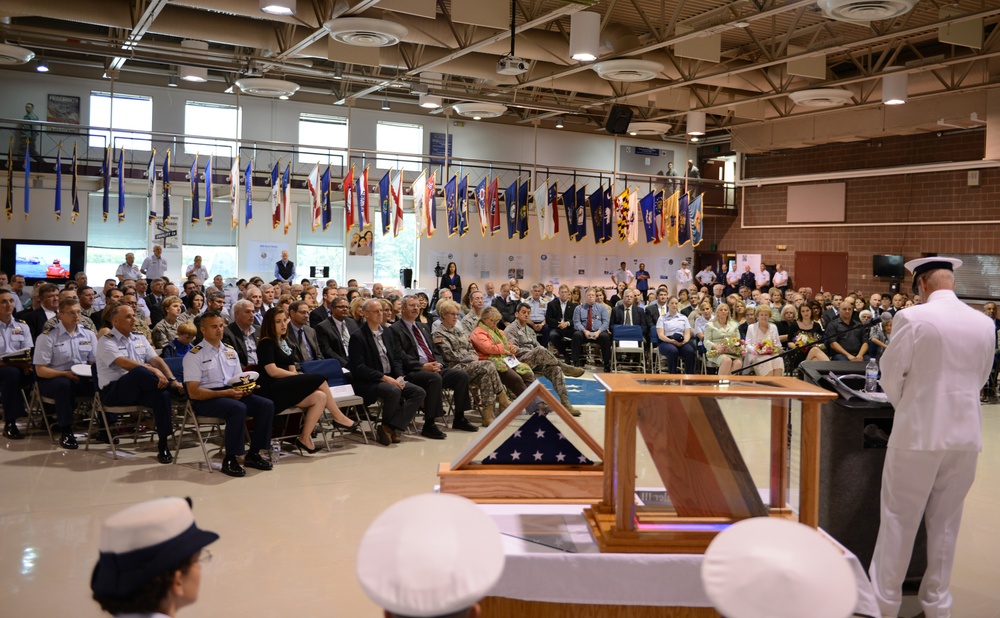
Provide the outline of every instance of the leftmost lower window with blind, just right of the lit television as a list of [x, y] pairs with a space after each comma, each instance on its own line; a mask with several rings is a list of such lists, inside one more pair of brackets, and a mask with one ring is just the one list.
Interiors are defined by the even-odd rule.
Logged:
[[87, 198], [87, 277], [100, 290], [105, 279], [114, 279], [126, 253], [135, 254], [135, 263], [146, 259], [147, 213], [145, 195], [125, 196], [125, 220], [118, 221], [118, 195], [109, 196], [108, 220], [104, 221], [103, 193]]

